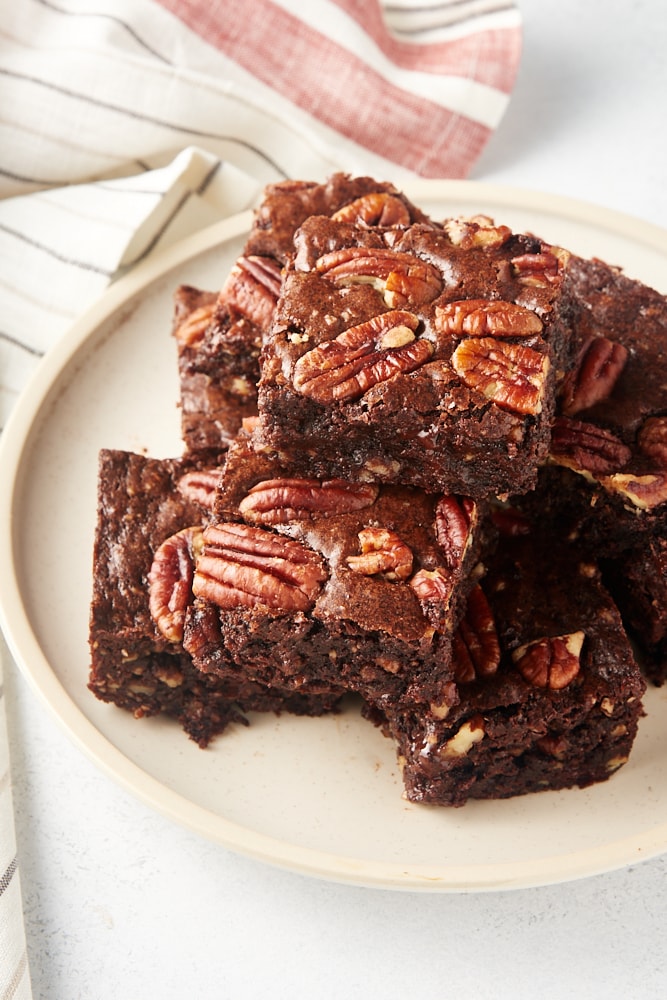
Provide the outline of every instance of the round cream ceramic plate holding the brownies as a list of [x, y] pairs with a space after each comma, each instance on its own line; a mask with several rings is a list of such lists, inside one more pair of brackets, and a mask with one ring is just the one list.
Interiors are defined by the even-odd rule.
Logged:
[[[406, 186], [438, 217], [484, 212], [603, 257], [667, 293], [667, 233], [563, 199], [467, 182]], [[587, 790], [449, 810], [401, 796], [392, 744], [351, 709], [256, 716], [202, 751], [166, 719], [136, 721], [87, 691], [88, 602], [101, 447], [180, 453], [171, 296], [220, 286], [249, 215], [114, 286], [44, 360], [0, 450], [0, 607], [21, 669], [73, 740], [173, 820], [280, 866], [358, 885], [517, 888], [667, 851], [667, 687], [646, 698], [630, 762]]]

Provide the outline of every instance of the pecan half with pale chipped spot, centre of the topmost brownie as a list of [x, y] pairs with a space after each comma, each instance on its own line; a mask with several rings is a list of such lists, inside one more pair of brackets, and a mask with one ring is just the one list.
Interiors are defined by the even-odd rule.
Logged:
[[419, 317], [396, 310], [350, 327], [303, 354], [294, 366], [294, 388], [319, 403], [358, 399], [401, 372], [420, 368], [433, 345], [415, 339]]

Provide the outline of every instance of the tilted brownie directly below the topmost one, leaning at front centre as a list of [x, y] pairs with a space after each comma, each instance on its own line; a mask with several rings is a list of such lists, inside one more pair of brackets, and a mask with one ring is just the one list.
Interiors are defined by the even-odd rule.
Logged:
[[184, 645], [204, 674], [456, 697], [451, 637], [488, 544], [478, 504], [405, 486], [303, 479], [240, 438], [195, 573]]

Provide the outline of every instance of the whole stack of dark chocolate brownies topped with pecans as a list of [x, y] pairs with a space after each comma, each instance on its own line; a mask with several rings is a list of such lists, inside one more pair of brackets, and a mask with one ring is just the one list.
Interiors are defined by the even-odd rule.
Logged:
[[98, 698], [205, 746], [354, 694], [414, 802], [628, 759], [667, 674], [667, 299], [337, 174], [268, 187], [173, 333], [183, 454], [100, 456]]

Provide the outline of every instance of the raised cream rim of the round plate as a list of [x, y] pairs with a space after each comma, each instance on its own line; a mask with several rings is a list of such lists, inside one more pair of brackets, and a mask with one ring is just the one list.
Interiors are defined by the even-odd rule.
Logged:
[[[493, 202], [577, 221], [642, 242], [667, 256], [667, 230], [624, 212], [594, 203], [522, 187], [468, 180], [414, 180], [401, 189], [416, 203], [425, 200]], [[17, 400], [0, 438], [0, 628], [22, 676], [70, 740], [116, 784], [170, 821], [255, 860], [332, 882], [426, 892], [487, 892], [573, 881], [648, 860], [667, 850], [667, 823], [641, 836], [601, 848], [557, 854], [524, 862], [484, 865], [411, 865], [355, 859], [279, 840], [226, 819], [164, 785], [116, 748], [76, 705], [42, 651], [21, 600], [14, 546], [14, 507], [21, 462], [42, 408], [69, 362], [99, 327], [120, 308], [170, 270], [215, 246], [247, 233], [253, 210], [234, 215], [161, 250], [116, 282], [77, 319], [46, 353]], [[639, 842], [641, 841], [641, 842]], [[549, 871], [545, 878], [545, 866]]]

